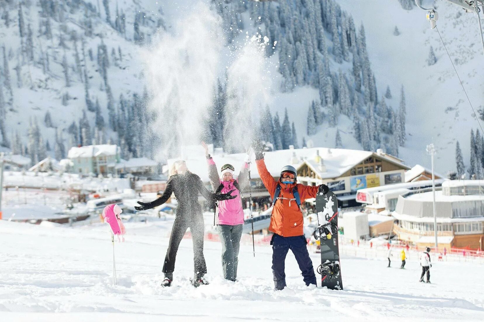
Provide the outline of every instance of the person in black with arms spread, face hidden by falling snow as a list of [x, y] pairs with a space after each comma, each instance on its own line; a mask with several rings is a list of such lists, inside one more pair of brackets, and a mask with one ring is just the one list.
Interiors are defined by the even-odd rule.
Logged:
[[168, 200], [172, 193], [175, 194], [175, 197], [178, 200], [178, 207], [175, 222], [173, 223], [173, 228], [171, 230], [168, 249], [166, 251], [165, 264], [163, 265], [165, 280], [163, 280], [161, 285], [171, 286], [178, 246], [180, 245], [181, 239], [187, 228], [190, 228], [193, 241], [195, 266], [193, 284], [195, 286], [208, 284], [207, 280], [204, 278], [204, 275], [207, 273], [207, 266], [203, 256], [204, 223], [202, 209], [198, 203], [198, 193], [212, 203], [214, 203], [215, 200], [233, 199], [236, 196], [230, 196], [233, 190], [226, 194], [219, 195], [209, 192], [207, 188], [205, 188], [200, 177], [188, 171], [185, 161], [176, 161], [172, 172], [176, 173], [171, 175], [168, 182], [166, 182], [166, 189], [163, 192], [163, 195], [151, 202], [138, 201], [140, 206], [135, 207], [135, 209], [147, 210], [160, 206]]

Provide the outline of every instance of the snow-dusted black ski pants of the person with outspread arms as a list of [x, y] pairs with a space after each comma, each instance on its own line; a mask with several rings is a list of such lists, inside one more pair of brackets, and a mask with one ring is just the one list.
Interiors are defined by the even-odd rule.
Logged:
[[186, 219], [177, 215], [173, 228], [171, 229], [170, 241], [168, 249], [166, 250], [165, 264], [163, 265], [163, 273], [172, 273], [175, 270], [175, 259], [177, 257], [178, 246], [180, 246], [181, 239], [187, 228], [190, 228], [193, 242], [193, 261], [195, 266], [195, 278], [201, 278], [207, 273], [207, 265], [203, 257], [203, 235], [204, 223], [202, 214], [195, 214], [191, 219]]

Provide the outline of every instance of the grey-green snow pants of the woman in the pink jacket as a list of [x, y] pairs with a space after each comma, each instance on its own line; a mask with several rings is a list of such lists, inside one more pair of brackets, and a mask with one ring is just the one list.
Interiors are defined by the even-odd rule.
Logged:
[[220, 242], [222, 243], [222, 269], [226, 280], [237, 278], [242, 230], [243, 224], [217, 225]]

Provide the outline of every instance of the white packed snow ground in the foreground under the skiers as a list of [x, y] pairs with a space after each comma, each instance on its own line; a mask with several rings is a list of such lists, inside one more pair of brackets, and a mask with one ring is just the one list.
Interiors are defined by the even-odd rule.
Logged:
[[[344, 291], [305, 287], [292, 254], [287, 289], [272, 290], [271, 248], [241, 246], [239, 282], [222, 278], [221, 245], [205, 242], [210, 285], [195, 289], [191, 239], [183, 239], [171, 288], [159, 286], [172, 220], [126, 223], [116, 242], [112, 285], [107, 224], [66, 227], [0, 221], [2, 321], [482, 321], [482, 265], [438, 262], [433, 284], [420, 266], [387, 268], [385, 258], [342, 258]], [[312, 253], [313, 263], [319, 254]], [[397, 266], [396, 264], [393, 266]]]

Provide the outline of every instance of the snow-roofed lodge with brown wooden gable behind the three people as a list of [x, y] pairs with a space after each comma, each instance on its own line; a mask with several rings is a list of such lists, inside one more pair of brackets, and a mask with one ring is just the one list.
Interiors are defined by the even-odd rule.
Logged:
[[[218, 151], [217, 151], [218, 150]], [[235, 167], [234, 175], [239, 174], [243, 165], [245, 154], [224, 154], [223, 151], [209, 145], [209, 153], [212, 155], [217, 168], [224, 164]], [[212, 191], [209, 184], [207, 160], [201, 146], [185, 146], [181, 151], [181, 158], [168, 159], [168, 168], [176, 160], [186, 161], [188, 169], [196, 173], [207, 188]], [[361, 206], [355, 201], [356, 192], [367, 187], [405, 182], [405, 171], [410, 167], [403, 164], [403, 160], [383, 151], [377, 152], [329, 149], [329, 148], [304, 148], [270, 151], [265, 153], [265, 163], [274, 180], [279, 180], [280, 170], [286, 165], [292, 165], [297, 169], [298, 182], [306, 185], [327, 184], [338, 197], [341, 208]], [[252, 197], [259, 204], [270, 204], [267, 189], [264, 187], [257, 172], [256, 163], [252, 160], [250, 165], [252, 178]], [[244, 191], [244, 198], [248, 198], [248, 189]]]

